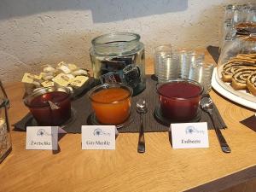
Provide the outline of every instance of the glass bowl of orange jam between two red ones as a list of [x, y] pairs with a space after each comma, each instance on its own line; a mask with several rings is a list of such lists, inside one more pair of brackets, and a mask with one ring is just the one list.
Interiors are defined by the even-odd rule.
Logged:
[[91, 107], [102, 125], [120, 125], [130, 117], [132, 89], [125, 84], [101, 84], [89, 91]]

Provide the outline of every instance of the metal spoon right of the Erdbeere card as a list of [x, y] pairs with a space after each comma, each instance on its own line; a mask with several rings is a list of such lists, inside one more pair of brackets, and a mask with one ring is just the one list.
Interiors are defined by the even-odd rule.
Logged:
[[218, 137], [218, 143], [220, 144], [220, 147], [221, 147], [222, 151], [224, 153], [230, 153], [231, 152], [230, 146], [228, 145], [228, 143], [224, 139], [221, 131], [218, 129], [218, 126], [215, 125], [215, 122], [213, 120], [213, 117], [212, 117], [212, 110], [213, 110], [212, 99], [210, 97], [207, 97], [207, 96], [202, 97], [200, 105], [201, 105], [201, 108], [210, 115], [214, 130], [215, 130], [216, 135]]

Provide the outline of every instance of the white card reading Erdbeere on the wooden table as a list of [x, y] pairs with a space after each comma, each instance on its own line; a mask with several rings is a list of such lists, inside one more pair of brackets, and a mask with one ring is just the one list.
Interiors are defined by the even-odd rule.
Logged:
[[171, 124], [172, 148], [209, 148], [207, 122]]

